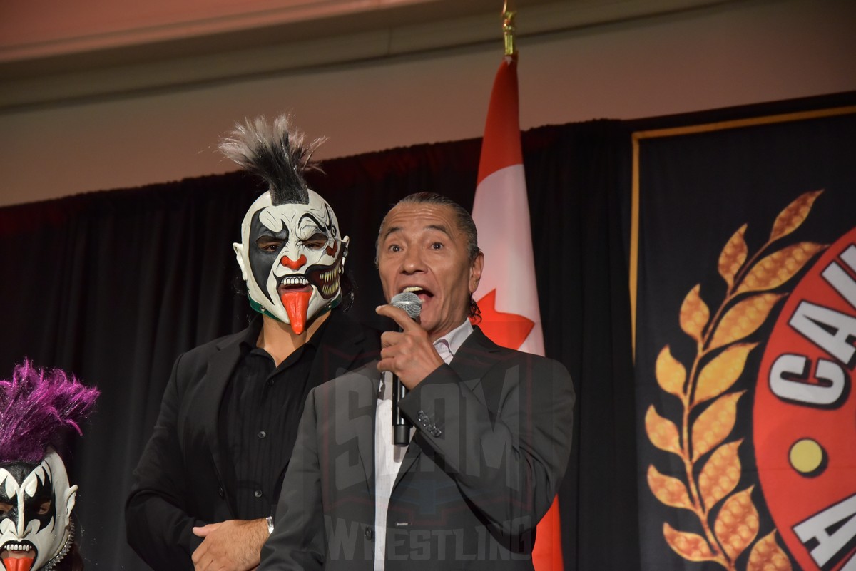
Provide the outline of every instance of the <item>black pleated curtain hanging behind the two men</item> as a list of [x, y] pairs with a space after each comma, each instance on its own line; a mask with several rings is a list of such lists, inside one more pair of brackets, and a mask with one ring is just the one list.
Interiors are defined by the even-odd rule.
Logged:
[[[638, 568], [629, 126], [542, 127], [523, 133], [523, 149], [545, 350], [568, 367], [578, 397], [560, 493], [566, 568]], [[389, 205], [431, 190], [471, 209], [479, 150], [479, 139], [426, 144], [312, 174], [351, 237], [360, 321], [386, 326], [373, 312], [383, 301], [373, 259]], [[146, 568], [124, 533], [131, 472], [175, 357], [247, 322], [231, 243], [259, 191], [235, 173], [0, 209], [0, 375], [28, 356], [103, 393], [70, 444], [87, 568]]]

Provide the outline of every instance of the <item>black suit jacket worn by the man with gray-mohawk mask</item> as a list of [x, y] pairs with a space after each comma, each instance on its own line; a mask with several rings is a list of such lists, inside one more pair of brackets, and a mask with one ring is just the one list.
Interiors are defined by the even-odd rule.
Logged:
[[[360, 327], [342, 311], [334, 310], [324, 327], [311, 386], [377, 358], [377, 332]], [[128, 544], [159, 571], [193, 569], [190, 556], [202, 540], [191, 528], [237, 517], [230, 493], [234, 470], [226, 464], [218, 414], [246, 334], [245, 329], [178, 357], [152, 438], [134, 470], [125, 504]]]

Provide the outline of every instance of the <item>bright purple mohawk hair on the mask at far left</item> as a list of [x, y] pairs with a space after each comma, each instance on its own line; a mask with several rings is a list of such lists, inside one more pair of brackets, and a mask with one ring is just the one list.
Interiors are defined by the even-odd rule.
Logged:
[[80, 434], [80, 422], [99, 391], [61, 369], [37, 369], [27, 359], [10, 380], [0, 380], [0, 464], [40, 462], [65, 427]]

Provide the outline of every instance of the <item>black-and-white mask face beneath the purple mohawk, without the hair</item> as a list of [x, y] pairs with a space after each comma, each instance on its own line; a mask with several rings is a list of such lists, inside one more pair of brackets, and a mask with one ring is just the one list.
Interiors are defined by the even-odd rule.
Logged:
[[40, 569], [62, 550], [76, 492], [51, 448], [39, 464], [0, 466], [0, 556], [6, 571]]

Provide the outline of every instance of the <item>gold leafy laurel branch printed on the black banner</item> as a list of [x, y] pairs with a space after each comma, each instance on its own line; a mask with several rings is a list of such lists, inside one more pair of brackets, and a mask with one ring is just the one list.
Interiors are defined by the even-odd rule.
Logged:
[[[652, 404], [645, 414], [645, 432], [651, 444], [681, 458], [685, 479], [661, 474], [651, 464], [648, 486], [660, 502], [689, 509], [698, 517], [704, 531], [701, 535], [663, 522], [666, 543], [689, 561], [716, 562], [728, 571], [737, 571], [738, 557], [752, 545], [746, 571], [791, 569], [788, 556], [776, 543], [775, 529], [756, 541], [759, 522], [758, 509], [752, 502], [754, 486], [735, 492], [740, 482], [738, 449], [743, 439], [726, 439], [737, 420], [737, 402], [746, 391], [728, 390], [740, 378], [746, 358], [757, 345], [741, 341], [755, 333], [776, 302], [787, 295], [770, 291], [785, 284], [826, 248], [824, 244], [800, 242], [766, 253], [800, 227], [821, 192], [806, 192], [782, 210], [770, 238], [748, 262], [746, 224], [734, 233], [719, 256], [719, 274], [728, 290], [712, 318], [700, 285], [687, 293], [679, 321], [683, 332], [696, 343], [689, 374], [672, 356], [668, 344], [657, 356], [657, 384], [681, 401], [682, 415], [680, 423], [675, 423], [657, 414]], [[696, 469], [699, 462], [704, 462], [700, 471]]]

